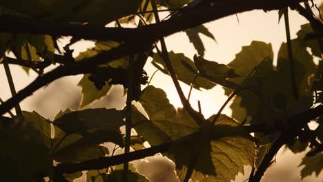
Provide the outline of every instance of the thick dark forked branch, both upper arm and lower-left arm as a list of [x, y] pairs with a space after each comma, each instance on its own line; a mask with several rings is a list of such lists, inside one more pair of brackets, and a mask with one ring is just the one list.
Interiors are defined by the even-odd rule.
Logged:
[[[146, 50], [150, 45], [160, 37], [168, 36], [175, 32], [186, 30], [199, 26], [202, 23], [220, 19], [231, 14], [244, 12], [248, 10], [263, 9], [277, 10], [285, 8], [288, 5], [304, 0], [232, 0], [228, 3], [222, 3], [219, 6], [206, 6], [198, 10], [183, 12], [181, 15], [162, 21], [157, 24], [142, 26], [139, 28], [93, 28], [90, 26], [79, 26], [68, 23], [43, 23], [35, 20], [19, 17], [0, 16], [0, 23], [6, 26], [0, 27], [0, 32], [32, 33], [32, 34], [51, 34], [51, 35], [72, 35], [84, 39], [109, 39], [112, 41], [126, 41], [126, 43], [113, 48], [108, 52], [98, 54], [95, 57], [79, 61], [66, 67], [56, 68], [52, 72], [43, 74], [36, 79], [37, 83], [30, 83], [11, 99], [0, 105], [0, 114], [8, 112], [14, 105], [30, 96], [39, 88], [48, 83], [59, 79], [60, 77], [82, 74], [90, 72], [95, 65], [107, 63], [113, 59], [118, 59], [126, 55]], [[78, 69], [75, 69], [78, 68]]]

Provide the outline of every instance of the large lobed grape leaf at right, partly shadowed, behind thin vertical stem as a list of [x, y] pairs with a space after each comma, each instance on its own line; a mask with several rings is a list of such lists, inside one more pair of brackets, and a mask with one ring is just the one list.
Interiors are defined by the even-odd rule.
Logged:
[[[297, 39], [293, 39], [291, 42], [295, 58], [295, 81], [300, 98], [310, 97], [311, 84], [308, 79], [315, 72], [313, 59]], [[262, 62], [265, 57], [272, 57], [271, 45], [258, 41], [244, 46], [242, 51], [236, 55], [235, 60], [228, 64], [235, 69], [237, 74], [242, 76], [242, 78], [229, 79], [235, 83], [242, 83], [244, 77], [255, 70], [251, 77], [245, 81], [245, 85], [255, 87], [254, 90], [257, 94], [250, 91], [240, 92], [231, 105], [233, 118], [238, 121], [248, 118], [248, 121], [252, 119], [253, 122], [273, 123], [274, 117], [280, 117], [277, 110], [286, 111], [296, 103], [291, 94], [291, 74], [286, 47], [286, 43], [282, 43], [276, 68], [273, 66], [272, 59]], [[258, 65], [260, 66], [257, 67]], [[226, 90], [226, 94], [229, 94], [229, 91]]]

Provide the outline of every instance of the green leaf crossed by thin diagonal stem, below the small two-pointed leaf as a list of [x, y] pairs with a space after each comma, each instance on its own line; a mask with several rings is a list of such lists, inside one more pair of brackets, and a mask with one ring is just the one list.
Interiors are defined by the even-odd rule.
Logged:
[[[177, 78], [180, 81], [186, 83], [187, 85], [190, 85], [190, 83], [193, 82], [197, 74], [197, 68], [195, 68], [193, 61], [190, 60], [188, 57], [185, 57], [185, 55], [182, 53], [175, 54], [173, 51], [171, 51], [168, 52], [168, 55], [170, 58], [170, 62], [172, 63], [175, 73], [177, 75]], [[164, 61], [158, 54], [154, 54], [153, 62], [161, 64], [164, 68], [164, 70], [161, 71], [163, 71], [165, 74], [168, 74]], [[188, 65], [190, 66], [190, 68], [188, 68]], [[195, 70], [195, 72], [192, 72], [192, 70]], [[196, 89], [211, 89], [214, 86], [214, 83], [202, 77], [197, 77], [194, 84], [194, 88]]]

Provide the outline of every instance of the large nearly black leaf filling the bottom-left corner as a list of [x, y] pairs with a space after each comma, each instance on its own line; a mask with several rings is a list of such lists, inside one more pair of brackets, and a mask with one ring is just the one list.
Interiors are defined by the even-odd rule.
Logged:
[[0, 145], [1, 181], [37, 181], [39, 174], [52, 175], [48, 148], [33, 125], [23, 130], [0, 126]]

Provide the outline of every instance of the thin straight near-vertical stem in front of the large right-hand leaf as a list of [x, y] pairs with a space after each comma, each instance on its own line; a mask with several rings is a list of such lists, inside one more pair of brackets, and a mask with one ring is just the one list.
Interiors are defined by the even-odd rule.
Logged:
[[296, 84], [296, 77], [295, 77], [293, 49], [292, 49], [292, 44], [291, 44], [291, 32], [289, 30], [288, 8], [285, 8], [285, 10], [284, 10], [284, 19], [285, 19], [288, 59], [289, 59], [289, 65], [290, 65], [290, 69], [291, 69], [292, 91], [293, 91], [294, 99], [296, 101], [298, 101], [299, 96], [298, 96], [298, 92], [297, 92], [297, 84]]

